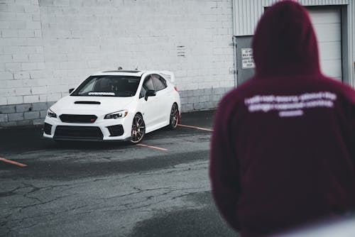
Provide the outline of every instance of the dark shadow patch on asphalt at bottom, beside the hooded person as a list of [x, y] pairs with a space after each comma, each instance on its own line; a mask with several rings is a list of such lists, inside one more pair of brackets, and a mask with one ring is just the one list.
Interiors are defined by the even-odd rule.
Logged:
[[156, 214], [151, 219], [138, 222], [129, 237], [239, 236], [219, 215], [211, 192], [190, 194], [185, 198], [203, 207]]

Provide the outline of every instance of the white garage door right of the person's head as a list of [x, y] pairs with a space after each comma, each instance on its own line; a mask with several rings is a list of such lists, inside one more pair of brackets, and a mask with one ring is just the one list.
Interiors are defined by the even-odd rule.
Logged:
[[337, 7], [308, 8], [320, 50], [322, 72], [342, 80], [342, 20]]

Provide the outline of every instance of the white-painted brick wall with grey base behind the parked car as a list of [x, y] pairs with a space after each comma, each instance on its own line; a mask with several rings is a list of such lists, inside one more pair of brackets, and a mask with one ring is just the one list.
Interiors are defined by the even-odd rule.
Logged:
[[213, 109], [234, 87], [232, 14], [232, 0], [2, 0], [0, 126], [41, 123], [118, 66], [171, 70], [182, 111]]

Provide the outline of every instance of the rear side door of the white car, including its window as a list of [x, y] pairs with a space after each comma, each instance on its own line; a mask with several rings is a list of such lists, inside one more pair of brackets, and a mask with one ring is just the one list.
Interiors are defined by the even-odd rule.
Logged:
[[163, 77], [160, 75], [152, 75], [153, 84], [156, 91], [156, 104], [160, 108], [160, 112], [158, 114], [158, 123], [164, 123], [168, 121], [170, 115], [170, 106], [171, 106], [171, 97], [169, 96], [168, 92], [168, 85]]

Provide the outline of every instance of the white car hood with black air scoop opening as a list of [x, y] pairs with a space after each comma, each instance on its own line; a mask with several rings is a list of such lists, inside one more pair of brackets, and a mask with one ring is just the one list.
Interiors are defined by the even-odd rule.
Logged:
[[50, 107], [55, 114], [105, 114], [129, 109], [136, 97], [75, 97], [67, 96]]

